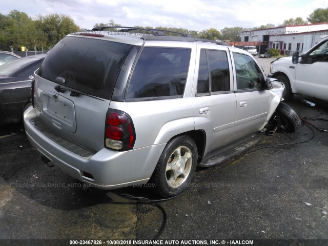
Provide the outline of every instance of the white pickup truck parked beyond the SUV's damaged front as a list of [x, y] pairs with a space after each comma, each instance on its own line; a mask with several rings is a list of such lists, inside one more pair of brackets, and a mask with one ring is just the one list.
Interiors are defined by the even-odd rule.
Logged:
[[280, 81], [284, 100], [294, 93], [328, 100], [328, 37], [305, 53], [272, 61], [268, 76]]

